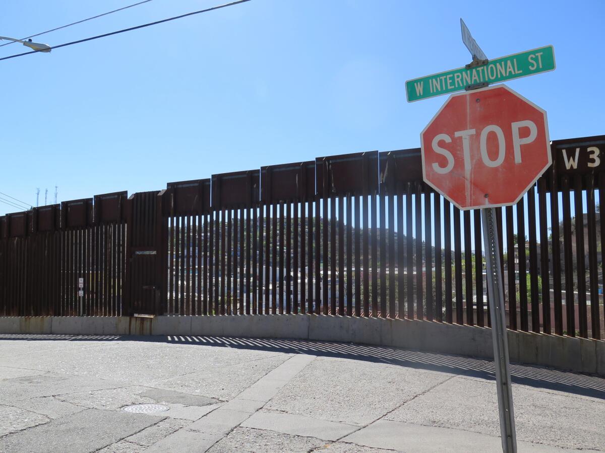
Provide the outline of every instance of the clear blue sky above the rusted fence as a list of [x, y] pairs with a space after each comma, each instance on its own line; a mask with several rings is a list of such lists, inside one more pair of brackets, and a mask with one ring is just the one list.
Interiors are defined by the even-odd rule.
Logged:
[[[0, 35], [134, 2], [3, 2]], [[36, 39], [57, 45], [220, 2], [153, 0]], [[0, 62], [0, 192], [35, 204], [40, 187], [43, 204], [55, 184], [65, 201], [417, 147], [445, 97], [409, 104], [404, 82], [469, 62], [460, 17], [488, 57], [554, 45], [555, 71], [508, 82], [546, 109], [552, 139], [605, 133], [602, 1], [252, 0]]]

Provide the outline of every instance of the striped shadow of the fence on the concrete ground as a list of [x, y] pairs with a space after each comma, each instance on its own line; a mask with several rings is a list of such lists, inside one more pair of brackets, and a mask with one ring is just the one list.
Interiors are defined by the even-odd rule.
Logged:
[[[182, 345], [231, 347], [282, 353], [300, 353], [332, 358], [354, 359], [399, 365], [422, 370], [464, 374], [495, 380], [494, 361], [459, 355], [440, 354], [385, 346], [372, 346], [329, 341], [295, 339], [237, 338], [199, 335], [57, 335], [14, 334], [0, 335], [2, 340], [28, 341], [145, 341]], [[511, 364], [511, 379], [515, 384], [557, 390], [599, 399], [605, 399], [605, 378], [590, 374], [535, 365]]]

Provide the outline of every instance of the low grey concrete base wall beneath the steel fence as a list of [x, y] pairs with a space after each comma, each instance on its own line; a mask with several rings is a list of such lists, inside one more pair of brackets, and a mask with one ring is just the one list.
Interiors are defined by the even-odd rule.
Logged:
[[[291, 338], [494, 357], [491, 329], [417, 320], [325, 315], [0, 317], [0, 333], [209, 335]], [[512, 362], [605, 377], [605, 341], [508, 330]]]

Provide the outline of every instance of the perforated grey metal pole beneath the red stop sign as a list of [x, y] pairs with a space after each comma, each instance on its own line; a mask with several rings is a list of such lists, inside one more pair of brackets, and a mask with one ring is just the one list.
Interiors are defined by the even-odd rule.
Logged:
[[500, 263], [498, 230], [494, 222], [495, 208], [483, 208], [481, 217], [487, 263], [489, 315], [494, 342], [495, 381], [498, 390], [502, 451], [504, 453], [516, 453], [517, 435], [515, 434], [515, 415], [512, 410], [511, 370], [509, 368], [508, 341], [506, 341], [502, 263]]

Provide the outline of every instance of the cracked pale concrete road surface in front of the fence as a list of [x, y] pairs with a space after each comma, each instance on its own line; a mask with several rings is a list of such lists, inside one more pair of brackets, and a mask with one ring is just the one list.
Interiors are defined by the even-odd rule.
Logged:
[[[492, 368], [330, 342], [0, 335], [0, 452], [500, 452]], [[605, 451], [605, 379], [512, 373], [518, 451]], [[137, 404], [167, 410], [123, 410]]]

